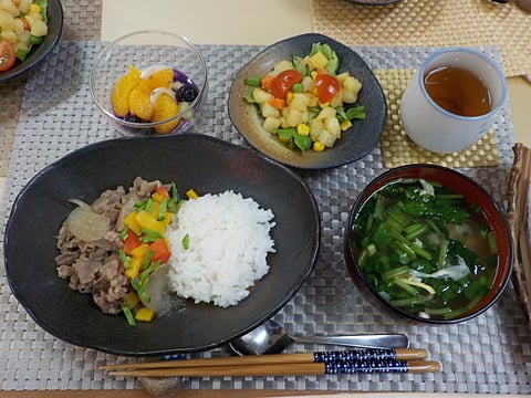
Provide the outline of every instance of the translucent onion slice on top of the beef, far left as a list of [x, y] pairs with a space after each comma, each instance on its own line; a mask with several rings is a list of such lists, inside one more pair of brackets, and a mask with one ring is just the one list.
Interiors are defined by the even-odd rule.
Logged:
[[67, 230], [77, 239], [85, 242], [93, 242], [104, 237], [108, 231], [111, 221], [102, 214], [96, 213], [82, 200], [72, 199], [77, 207], [66, 218]]

